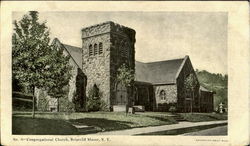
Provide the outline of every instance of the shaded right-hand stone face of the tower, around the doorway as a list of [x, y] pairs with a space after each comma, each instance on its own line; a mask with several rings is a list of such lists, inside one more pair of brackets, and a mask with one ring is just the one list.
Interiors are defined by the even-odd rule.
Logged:
[[[127, 33], [126, 31], [131, 33]], [[122, 27], [120, 25], [113, 25], [111, 33], [111, 58], [110, 58], [110, 80], [111, 80], [111, 104], [115, 104], [115, 78], [117, 70], [122, 64], [126, 64], [132, 70], [135, 70], [135, 31]], [[134, 32], [134, 33], [133, 33]], [[132, 103], [132, 88], [128, 88], [128, 104]]]

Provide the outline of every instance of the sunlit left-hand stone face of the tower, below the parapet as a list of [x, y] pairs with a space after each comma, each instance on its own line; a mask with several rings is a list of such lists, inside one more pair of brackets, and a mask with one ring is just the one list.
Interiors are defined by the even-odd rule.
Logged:
[[[98, 31], [98, 30], [96, 30]], [[89, 45], [103, 44], [103, 53], [89, 56]], [[109, 105], [110, 97], [110, 34], [83, 38], [83, 65], [82, 70], [87, 76], [87, 91], [94, 86], [100, 89], [102, 99]]]

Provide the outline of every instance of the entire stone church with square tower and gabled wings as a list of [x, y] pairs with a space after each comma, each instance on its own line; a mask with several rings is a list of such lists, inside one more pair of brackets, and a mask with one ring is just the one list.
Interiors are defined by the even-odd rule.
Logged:
[[[74, 92], [81, 91], [83, 109], [87, 110], [86, 97], [93, 86], [98, 87], [111, 111], [124, 111], [132, 106], [142, 111], [169, 111], [171, 106], [178, 112], [190, 112], [191, 106], [196, 112], [213, 109], [213, 92], [202, 88], [202, 95], [209, 98], [207, 103], [202, 102], [199, 84], [194, 96], [184, 90], [185, 79], [195, 75], [189, 56], [159, 62], [135, 61], [136, 31], [111, 21], [83, 28], [81, 34], [82, 48], [63, 44], [58, 39], [53, 44], [71, 57], [73, 71], [68, 100], [72, 102]], [[129, 88], [115, 82], [122, 64], [135, 71], [133, 86]], [[196, 75], [195, 80], [198, 82]], [[53, 103], [48, 110], [56, 109], [58, 103]]]

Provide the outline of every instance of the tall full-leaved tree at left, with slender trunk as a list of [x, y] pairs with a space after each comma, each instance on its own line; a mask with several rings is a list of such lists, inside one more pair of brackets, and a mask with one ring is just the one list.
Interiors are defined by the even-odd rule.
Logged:
[[62, 86], [69, 81], [69, 57], [50, 45], [50, 32], [45, 24], [38, 21], [38, 12], [30, 11], [20, 21], [14, 21], [12, 35], [13, 78], [31, 88], [33, 118], [35, 87], [50, 89], [50, 94], [59, 97]]

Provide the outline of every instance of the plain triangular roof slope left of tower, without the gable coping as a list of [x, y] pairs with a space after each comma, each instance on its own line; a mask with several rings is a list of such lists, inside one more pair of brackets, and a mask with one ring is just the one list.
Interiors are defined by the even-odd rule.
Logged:
[[79, 47], [63, 44], [64, 47], [67, 49], [71, 57], [74, 59], [76, 64], [82, 68], [82, 49]]

